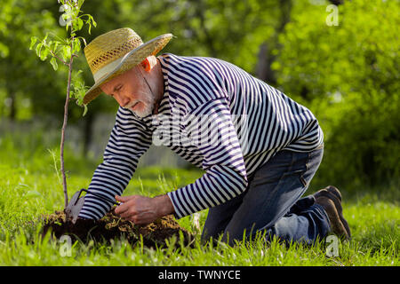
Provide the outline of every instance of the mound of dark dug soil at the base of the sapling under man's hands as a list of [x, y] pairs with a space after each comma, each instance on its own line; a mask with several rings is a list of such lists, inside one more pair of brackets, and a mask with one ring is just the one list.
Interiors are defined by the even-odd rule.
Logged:
[[173, 235], [179, 240], [180, 232], [183, 234], [185, 245], [189, 245], [192, 240], [191, 234], [182, 228], [173, 219], [172, 215], [162, 217], [148, 225], [134, 225], [131, 221], [125, 221], [123, 218], [118, 217], [111, 210], [100, 220], [78, 218], [76, 224], [73, 224], [70, 220], [66, 220], [66, 215], [63, 211], [55, 211], [51, 215], [44, 216], [43, 221], [43, 236], [51, 230], [53, 237], [59, 239], [62, 235], [69, 235], [72, 241], [87, 242], [93, 240], [109, 242], [123, 237], [134, 246], [140, 241], [141, 235], [144, 246], [155, 248], [156, 246], [165, 245], [165, 240]]

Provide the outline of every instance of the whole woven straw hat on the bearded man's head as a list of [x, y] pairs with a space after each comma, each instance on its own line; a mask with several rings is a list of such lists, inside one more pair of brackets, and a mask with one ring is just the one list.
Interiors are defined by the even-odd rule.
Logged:
[[94, 78], [94, 85], [84, 94], [84, 105], [100, 95], [101, 84], [135, 67], [148, 56], [156, 55], [171, 38], [172, 34], [165, 34], [143, 43], [131, 28], [118, 28], [93, 39], [84, 48]]

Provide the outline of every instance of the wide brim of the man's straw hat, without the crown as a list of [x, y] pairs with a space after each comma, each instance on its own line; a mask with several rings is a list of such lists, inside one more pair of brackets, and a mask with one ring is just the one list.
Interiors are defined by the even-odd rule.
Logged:
[[148, 56], [156, 55], [167, 43], [169, 43], [171, 39], [172, 34], [157, 36], [147, 43], [143, 43], [132, 51], [126, 53], [121, 59], [119, 59], [120, 62], [115, 68], [110, 70], [106, 75], [103, 75], [88, 91], [86, 91], [84, 94], [84, 105], [89, 104], [103, 92], [100, 89], [100, 86], [103, 83], [107, 83], [117, 75], [121, 75], [132, 67], [137, 66], [144, 59], [148, 58]]

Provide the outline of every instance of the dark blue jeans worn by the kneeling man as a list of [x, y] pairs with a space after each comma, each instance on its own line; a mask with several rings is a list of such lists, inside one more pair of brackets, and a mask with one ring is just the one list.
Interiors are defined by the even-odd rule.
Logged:
[[323, 154], [324, 144], [308, 153], [276, 153], [254, 173], [244, 193], [209, 209], [202, 239], [223, 233], [222, 241], [233, 245], [257, 232], [308, 244], [324, 238], [330, 230], [326, 212], [314, 196], [301, 198]]

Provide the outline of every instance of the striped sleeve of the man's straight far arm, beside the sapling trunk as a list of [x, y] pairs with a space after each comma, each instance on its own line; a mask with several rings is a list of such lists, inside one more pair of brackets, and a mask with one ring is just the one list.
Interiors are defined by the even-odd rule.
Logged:
[[[121, 195], [136, 170], [140, 156], [151, 145], [151, 138], [152, 133], [146, 125], [136, 119], [131, 111], [120, 107], [103, 162], [94, 171], [89, 192], [99, 193], [110, 200], [114, 200], [116, 194]], [[111, 207], [111, 202], [87, 193], [79, 217], [99, 219]]]

